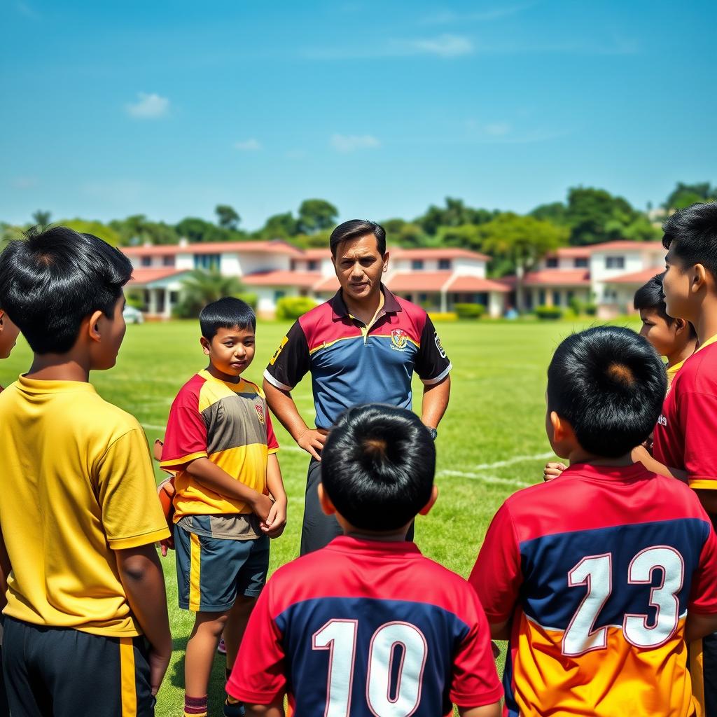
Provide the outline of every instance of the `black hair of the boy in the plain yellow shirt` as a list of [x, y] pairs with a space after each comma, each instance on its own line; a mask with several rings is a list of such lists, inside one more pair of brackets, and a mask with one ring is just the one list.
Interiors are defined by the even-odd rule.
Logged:
[[112, 318], [132, 264], [120, 250], [70, 227], [32, 227], [0, 255], [0, 306], [34, 353], [67, 353], [93, 311]]

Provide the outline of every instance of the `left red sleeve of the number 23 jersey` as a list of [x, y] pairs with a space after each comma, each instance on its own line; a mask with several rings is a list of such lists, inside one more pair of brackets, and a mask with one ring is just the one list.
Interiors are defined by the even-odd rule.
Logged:
[[521, 554], [508, 505], [503, 503], [490, 523], [468, 582], [489, 622], [505, 622], [513, 614], [521, 587]]

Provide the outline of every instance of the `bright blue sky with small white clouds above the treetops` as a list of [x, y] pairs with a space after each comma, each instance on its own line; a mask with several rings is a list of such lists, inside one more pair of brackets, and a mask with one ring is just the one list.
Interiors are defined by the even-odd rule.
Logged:
[[0, 219], [717, 182], [709, 1], [1, 0]]

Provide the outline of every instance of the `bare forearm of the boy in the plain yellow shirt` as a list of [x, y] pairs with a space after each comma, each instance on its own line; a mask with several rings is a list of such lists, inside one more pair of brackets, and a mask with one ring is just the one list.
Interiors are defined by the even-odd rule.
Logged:
[[156, 695], [172, 656], [164, 574], [153, 544], [116, 550], [115, 556], [127, 602], [151, 645], [150, 685]]

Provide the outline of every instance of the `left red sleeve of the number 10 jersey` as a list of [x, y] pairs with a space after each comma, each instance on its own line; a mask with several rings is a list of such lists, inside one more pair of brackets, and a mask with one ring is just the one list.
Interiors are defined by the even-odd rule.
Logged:
[[[281, 633], [272, 618], [272, 581], [257, 599], [227, 692], [252, 705], [268, 705], [286, 691], [286, 665]], [[260, 649], [257, 649], [260, 647]]]

